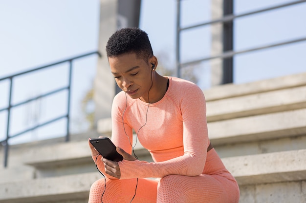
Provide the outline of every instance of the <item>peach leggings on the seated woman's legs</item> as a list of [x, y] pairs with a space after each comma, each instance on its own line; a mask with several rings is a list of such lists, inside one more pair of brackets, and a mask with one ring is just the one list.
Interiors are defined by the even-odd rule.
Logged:
[[[226, 174], [223, 174], [227, 176]], [[138, 179], [132, 203], [238, 203], [239, 193], [230, 192], [236, 182], [220, 175], [168, 175], [158, 180]], [[90, 188], [88, 203], [101, 203], [105, 180], [97, 180]], [[136, 179], [108, 179], [103, 203], [130, 203]], [[227, 188], [224, 190], [224, 188]]]

